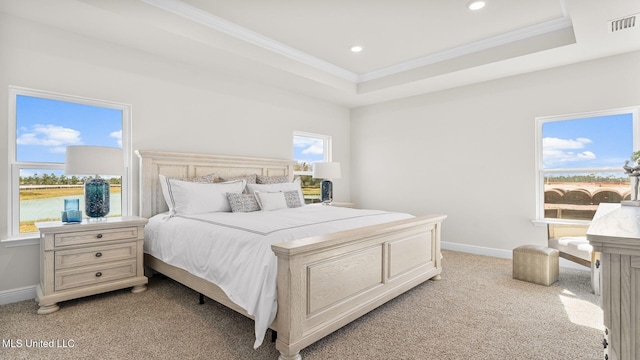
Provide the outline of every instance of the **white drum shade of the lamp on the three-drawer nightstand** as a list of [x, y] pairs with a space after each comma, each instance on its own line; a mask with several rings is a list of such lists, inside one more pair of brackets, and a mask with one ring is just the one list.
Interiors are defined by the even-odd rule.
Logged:
[[106, 146], [67, 146], [66, 175], [122, 175], [122, 149]]

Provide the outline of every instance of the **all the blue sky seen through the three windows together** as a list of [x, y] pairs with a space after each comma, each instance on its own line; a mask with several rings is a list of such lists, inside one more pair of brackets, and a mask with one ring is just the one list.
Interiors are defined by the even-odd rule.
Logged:
[[[19, 95], [16, 99], [19, 162], [64, 163], [65, 147], [122, 147], [122, 111]], [[633, 151], [632, 115], [549, 121], [542, 127], [547, 169], [622, 167]], [[323, 140], [294, 136], [299, 162], [323, 160]]]

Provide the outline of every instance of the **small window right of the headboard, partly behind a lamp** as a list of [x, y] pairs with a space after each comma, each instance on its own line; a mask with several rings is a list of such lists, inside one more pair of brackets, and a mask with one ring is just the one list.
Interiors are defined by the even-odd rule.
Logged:
[[331, 136], [295, 131], [293, 159], [296, 161], [293, 175], [301, 178], [305, 202], [320, 202], [322, 179], [312, 177], [313, 163], [331, 161]]

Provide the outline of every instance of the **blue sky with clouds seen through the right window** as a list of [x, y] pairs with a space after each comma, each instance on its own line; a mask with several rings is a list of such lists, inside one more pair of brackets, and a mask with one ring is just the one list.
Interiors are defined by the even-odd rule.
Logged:
[[550, 121], [542, 126], [546, 169], [620, 167], [633, 152], [633, 116]]

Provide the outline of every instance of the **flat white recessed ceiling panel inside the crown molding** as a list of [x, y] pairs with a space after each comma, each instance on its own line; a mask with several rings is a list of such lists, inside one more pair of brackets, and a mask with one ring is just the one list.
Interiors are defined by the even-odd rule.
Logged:
[[[493, 0], [481, 11], [466, 1], [182, 2], [359, 75], [565, 16], [559, 0]], [[352, 53], [353, 45], [364, 52]]]

